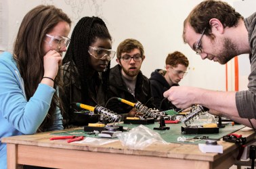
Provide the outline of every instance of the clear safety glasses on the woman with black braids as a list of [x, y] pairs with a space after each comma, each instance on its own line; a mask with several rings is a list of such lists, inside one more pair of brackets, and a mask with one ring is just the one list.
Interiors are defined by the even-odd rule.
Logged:
[[114, 55], [116, 54], [116, 51], [113, 51], [111, 49], [104, 49], [100, 47], [91, 47], [91, 46], [89, 46], [88, 52], [95, 59], [103, 59], [104, 57], [106, 57], [108, 61], [113, 59]]

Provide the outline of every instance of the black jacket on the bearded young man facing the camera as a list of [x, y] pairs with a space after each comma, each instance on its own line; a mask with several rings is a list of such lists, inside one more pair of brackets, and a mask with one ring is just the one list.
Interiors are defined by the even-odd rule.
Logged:
[[116, 114], [127, 114], [133, 108], [131, 105], [121, 103], [117, 99], [111, 99], [112, 97], [120, 97], [121, 99], [126, 99], [136, 103], [140, 101], [142, 104], [146, 105], [148, 108], [154, 108], [154, 101], [151, 95], [150, 81], [146, 76], [140, 72], [137, 75], [137, 81], [135, 84], [135, 97], [129, 93], [125, 82], [121, 77], [121, 66], [116, 65], [110, 70], [110, 89], [108, 92], [108, 104], [106, 107], [112, 110]]

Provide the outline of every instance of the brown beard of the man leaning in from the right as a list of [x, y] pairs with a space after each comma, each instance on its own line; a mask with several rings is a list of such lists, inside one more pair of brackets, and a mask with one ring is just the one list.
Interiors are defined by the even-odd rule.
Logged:
[[238, 47], [232, 43], [230, 39], [223, 40], [223, 50], [220, 52], [221, 54], [218, 57], [219, 64], [226, 64], [233, 57], [238, 55]]

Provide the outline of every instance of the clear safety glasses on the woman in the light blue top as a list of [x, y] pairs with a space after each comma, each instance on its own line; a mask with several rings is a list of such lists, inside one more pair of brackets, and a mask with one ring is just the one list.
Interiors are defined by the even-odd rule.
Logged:
[[68, 37], [57, 37], [50, 34], [45, 34], [45, 36], [49, 38], [49, 41], [46, 39], [45, 42], [56, 51], [59, 51], [62, 47], [68, 47], [70, 43]]

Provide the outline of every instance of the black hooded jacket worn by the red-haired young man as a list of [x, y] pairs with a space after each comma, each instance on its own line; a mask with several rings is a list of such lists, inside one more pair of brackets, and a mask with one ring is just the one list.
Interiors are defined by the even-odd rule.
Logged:
[[154, 104], [156, 105], [156, 108], [161, 111], [172, 109], [178, 111], [179, 109], [177, 109], [175, 105], [163, 97], [163, 93], [173, 86], [179, 86], [179, 84], [173, 84], [173, 86], [170, 86], [167, 80], [165, 80], [165, 73], [166, 71], [161, 69], [156, 69], [151, 73], [149, 80], [151, 84], [152, 97], [154, 97]]

